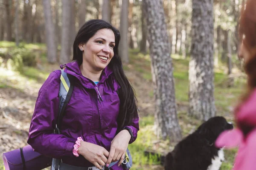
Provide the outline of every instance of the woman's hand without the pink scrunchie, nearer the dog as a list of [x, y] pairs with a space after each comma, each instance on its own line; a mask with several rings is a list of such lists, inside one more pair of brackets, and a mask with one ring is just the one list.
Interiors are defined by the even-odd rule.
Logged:
[[120, 166], [123, 159], [125, 158], [125, 152], [127, 150], [130, 139], [131, 139], [131, 135], [128, 132], [128, 130], [122, 130], [115, 136], [115, 138], [111, 142], [111, 148], [109, 152], [107, 166], [112, 161], [118, 161], [118, 160], [119, 160], [118, 166]]

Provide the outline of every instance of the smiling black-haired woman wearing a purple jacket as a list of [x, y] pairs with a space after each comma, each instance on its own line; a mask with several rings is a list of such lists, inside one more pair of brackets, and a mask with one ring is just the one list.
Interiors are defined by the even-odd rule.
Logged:
[[[44, 156], [61, 159], [59, 170], [125, 169], [119, 165], [137, 138], [139, 117], [118, 54], [119, 40], [119, 31], [103, 20], [89, 20], [79, 29], [73, 61], [61, 65], [74, 85], [61, 134], [52, 133], [61, 71], [53, 71], [38, 93], [28, 143]], [[58, 169], [55, 163], [52, 170]]]

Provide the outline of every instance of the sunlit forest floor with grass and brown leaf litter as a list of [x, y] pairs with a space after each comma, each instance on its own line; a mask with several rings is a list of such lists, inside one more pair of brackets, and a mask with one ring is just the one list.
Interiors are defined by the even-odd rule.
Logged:
[[[7, 49], [6, 49], [7, 48]], [[1, 51], [9, 51], [13, 45], [0, 44]], [[29, 48], [29, 47], [28, 47]], [[47, 64], [45, 48], [38, 46], [40, 59], [37, 67], [24, 67], [22, 72], [6, 68], [5, 59], [0, 62], [0, 153], [25, 146], [29, 123], [35, 107], [38, 90], [51, 71], [59, 69], [59, 65]], [[163, 170], [154, 157], [144, 156], [144, 150], [166, 154], [174, 147], [174, 143], [157, 139], [154, 135], [154, 94], [151, 79], [150, 58], [138, 50], [130, 50], [130, 64], [124, 65], [125, 73], [133, 85], [139, 105], [140, 131], [137, 140], [129, 145], [133, 157], [133, 170]], [[187, 116], [188, 111], [188, 65], [189, 59], [181, 59], [172, 55], [175, 77], [175, 95], [178, 119], [183, 137], [192, 133], [201, 121]], [[0, 57], [1, 60], [1, 57]], [[244, 91], [244, 78], [236, 78], [234, 86], [227, 88], [226, 67], [215, 68], [215, 104], [217, 115], [225, 116], [233, 122], [233, 106]], [[239, 72], [239, 71], [236, 71]], [[226, 160], [221, 170], [230, 170], [235, 150], [225, 150]], [[0, 160], [0, 169], [3, 162]]]

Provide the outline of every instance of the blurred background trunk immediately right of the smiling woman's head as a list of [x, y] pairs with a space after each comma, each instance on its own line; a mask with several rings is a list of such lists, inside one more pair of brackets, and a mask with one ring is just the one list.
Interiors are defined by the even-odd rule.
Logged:
[[128, 63], [128, 6], [129, 0], [122, 0], [122, 10], [121, 10], [121, 19], [120, 19], [120, 46], [119, 51], [122, 57], [122, 62]]

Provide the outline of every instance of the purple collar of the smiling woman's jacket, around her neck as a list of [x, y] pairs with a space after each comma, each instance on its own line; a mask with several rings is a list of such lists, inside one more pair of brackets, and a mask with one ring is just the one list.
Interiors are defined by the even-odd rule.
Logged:
[[[84, 77], [80, 71], [79, 65], [77, 61], [69, 62], [65, 65], [60, 65], [60, 68], [66, 67], [67, 69], [64, 70], [67, 74], [71, 74], [84, 85], [86, 88], [95, 88], [95, 84], [92, 80], [88, 79], [87, 77]], [[106, 79], [113, 73], [112, 69], [107, 66], [102, 71], [99, 84], [104, 83]]]

